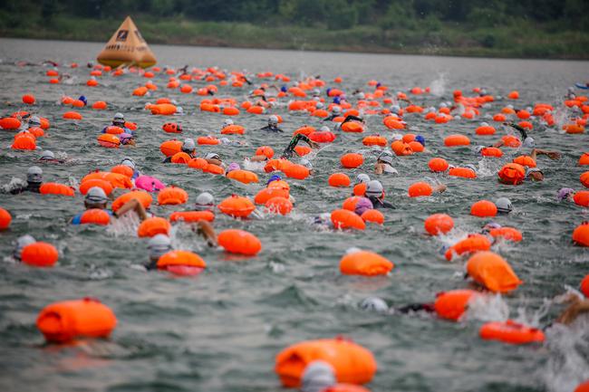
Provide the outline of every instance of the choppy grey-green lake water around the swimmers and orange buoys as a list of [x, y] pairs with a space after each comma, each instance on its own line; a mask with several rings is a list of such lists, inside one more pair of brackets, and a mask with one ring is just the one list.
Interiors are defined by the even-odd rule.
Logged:
[[[332, 81], [344, 78], [346, 91], [368, 90], [365, 82], [376, 79], [393, 91], [413, 86], [431, 86], [435, 94], [418, 98], [423, 106], [451, 100], [459, 88], [484, 86], [499, 96], [518, 90], [521, 107], [543, 101], [560, 106], [566, 88], [587, 78], [589, 62], [490, 60], [348, 53], [307, 53], [196, 48], [152, 47], [160, 64], [222, 68], [251, 72], [283, 72], [296, 79], [321, 75]], [[161, 165], [159, 143], [170, 139], [161, 130], [169, 119], [142, 110], [155, 98], [168, 96], [179, 101], [187, 116], [183, 137], [218, 133], [222, 116], [198, 110], [200, 97], [165, 89], [166, 77], [154, 79], [159, 85], [151, 97], [131, 97], [130, 91], [143, 82], [137, 76], [118, 79], [103, 77], [101, 86], [85, 85], [87, 69], [69, 69], [76, 79], [71, 85], [50, 85], [44, 67], [16, 67], [9, 62], [85, 63], [101, 50], [97, 43], [0, 40], [0, 99], [2, 115], [24, 109], [20, 97], [33, 92], [39, 101], [35, 110], [52, 121], [43, 148], [52, 149], [71, 161], [64, 165], [43, 165], [45, 181], [79, 181], [95, 168], [109, 169], [125, 156], [132, 157], [145, 174], [165, 183], [182, 186], [191, 201], [208, 190], [217, 201], [232, 193], [253, 196], [259, 186], [240, 186], [224, 177], [212, 177], [180, 165]], [[192, 82], [193, 86], [205, 85]], [[67, 109], [59, 104], [62, 94], [88, 100], [107, 100], [109, 110], [82, 110], [84, 120], [72, 124], [62, 120]], [[244, 100], [246, 91], [221, 88], [219, 96]], [[495, 113], [506, 105], [497, 101]], [[106, 149], [96, 145], [96, 135], [114, 112], [140, 125], [137, 148]], [[285, 148], [290, 132], [318, 120], [277, 110], [285, 118], [281, 135], [256, 132], [265, 118], [242, 113], [237, 123], [246, 126], [246, 147], [199, 147], [198, 154], [219, 152], [227, 161], [241, 162], [257, 147]], [[448, 191], [432, 198], [410, 199], [407, 187], [421, 178], [434, 179], [427, 170], [429, 155], [397, 159], [399, 177], [382, 177], [387, 198], [397, 209], [385, 212], [383, 227], [342, 233], [320, 231], [309, 218], [341, 206], [349, 189], [327, 186], [327, 177], [339, 170], [339, 157], [362, 148], [363, 135], [343, 134], [330, 148], [313, 159], [317, 173], [305, 181], [290, 181], [296, 198], [291, 216], [266, 216], [261, 220], [238, 222], [217, 215], [216, 229], [246, 228], [263, 243], [263, 252], [249, 259], [228, 257], [208, 249], [184, 226], [174, 229], [178, 248], [199, 253], [208, 263], [196, 279], [174, 279], [159, 272], [143, 272], [138, 264], [147, 258], [146, 241], [137, 238], [127, 220], [104, 229], [72, 226], [68, 220], [82, 211], [82, 196], [21, 195], [0, 196], [0, 206], [14, 216], [9, 231], [0, 234], [0, 389], [3, 391], [279, 391], [275, 377], [275, 354], [303, 339], [348, 336], [371, 349], [379, 370], [368, 386], [372, 391], [572, 391], [589, 378], [586, 324], [575, 333], [551, 330], [544, 347], [510, 347], [478, 338], [478, 326], [488, 318], [505, 318], [544, 325], [559, 308], [546, 300], [576, 287], [587, 272], [589, 253], [571, 244], [576, 225], [589, 217], [574, 204], [556, 202], [562, 186], [580, 188], [583, 172], [576, 166], [582, 150], [589, 148], [584, 135], [563, 135], [557, 129], [537, 127], [539, 148], [563, 153], [560, 161], [540, 158], [546, 181], [523, 186], [499, 186], [495, 172], [500, 165], [526, 151], [510, 150], [499, 161], [484, 161], [470, 149], [443, 148], [450, 133], [468, 134], [475, 144], [489, 139], [473, 136], [478, 121], [459, 120], [431, 125], [420, 116], [406, 116], [411, 127], [427, 139], [428, 148], [450, 163], [474, 163], [482, 175], [474, 181], [439, 177]], [[368, 133], [387, 136], [381, 117], [369, 117]], [[500, 136], [491, 139], [495, 141]], [[11, 132], [0, 133], [0, 183], [24, 177], [36, 162], [29, 152], [7, 148]], [[366, 159], [363, 170], [372, 174], [375, 158]], [[359, 173], [351, 170], [351, 176]], [[262, 180], [269, 177], [261, 173]], [[517, 292], [496, 299], [474, 320], [451, 323], [429, 316], [401, 316], [367, 313], [358, 302], [379, 296], [390, 304], [431, 301], [436, 292], [466, 287], [462, 280], [463, 261], [447, 263], [439, 253], [445, 243], [460, 235], [476, 232], [486, 221], [468, 215], [469, 206], [481, 198], [509, 197], [515, 211], [497, 217], [497, 222], [519, 228], [520, 244], [495, 248], [514, 266], [526, 282]], [[154, 206], [156, 215], [168, 216], [177, 208]], [[423, 234], [422, 223], [432, 213], [454, 216], [456, 229], [451, 238], [440, 241]], [[59, 265], [33, 269], [9, 263], [12, 242], [22, 234], [55, 244]], [[391, 277], [353, 278], [341, 276], [338, 263], [351, 246], [381, 253], [396, 264]], [[34, 321], [38, 312], [52, 301], [92, 296], [111, 306], [119, 325], [108, 341], [88, 342], [81, 347], [55, 348], [43, 344]], [[507, 308], [506, 308], [507, 307]], [[497, 315], [497, 316], [496, 316]]]

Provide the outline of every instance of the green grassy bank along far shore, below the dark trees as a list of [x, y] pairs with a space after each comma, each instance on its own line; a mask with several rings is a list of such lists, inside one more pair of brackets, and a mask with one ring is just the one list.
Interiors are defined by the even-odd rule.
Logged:
[[[184, 18], [135, 17], [148, 43], [294, 49], [337, 52], [410, 53], [486, 57], [589, 59], [589, 34], [553, 29], [550, 24], [519, 21], [477, 28], [425, 20], [419, 28], [383, 30], [357, 25], [347, 30], [194, 22]], [[5, 37], [106, 42], [121, 19], [55, 16], [14, 18], [0, 13]]]

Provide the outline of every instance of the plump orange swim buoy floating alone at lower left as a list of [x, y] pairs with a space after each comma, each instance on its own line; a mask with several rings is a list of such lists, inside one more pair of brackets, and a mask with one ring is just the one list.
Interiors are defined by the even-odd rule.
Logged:
[[36, 324], [45, 339], [64, 343], [75, 338], [107, 338], [116, 327], [117, 318], [100, 301], [84, 298], [46, 306]]

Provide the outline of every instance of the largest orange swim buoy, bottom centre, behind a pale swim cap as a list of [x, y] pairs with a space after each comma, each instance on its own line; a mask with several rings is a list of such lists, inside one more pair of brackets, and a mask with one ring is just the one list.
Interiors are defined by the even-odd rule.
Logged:
[[323, 360], [335, 371], [338, 382], [365, 384], [376, 373], [376, 360], [362, 346], [345, 339], [307, 340], [276, 355], [275, 372], [284, 387], [301, 387], [304, 368]]

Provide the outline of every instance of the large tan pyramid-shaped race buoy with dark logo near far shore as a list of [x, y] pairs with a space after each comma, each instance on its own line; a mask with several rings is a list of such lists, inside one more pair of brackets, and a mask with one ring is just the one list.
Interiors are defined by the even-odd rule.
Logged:
[[96, 60], [111, 67], [134, 65], [141, 68], [149, 68], [158, 62], [130, 16], [112, 34]]

